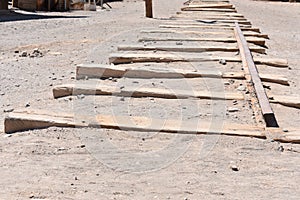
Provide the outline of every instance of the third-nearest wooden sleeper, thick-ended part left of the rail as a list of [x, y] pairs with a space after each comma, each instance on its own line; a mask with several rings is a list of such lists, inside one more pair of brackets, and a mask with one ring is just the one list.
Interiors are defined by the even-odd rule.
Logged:
[[179, 69], [144, 69], [141, 67], [121, 68], [113, 65], [82, 64], [76, 68], [76, 78], [232, 78], [244, 79], [242, 72], [191, 71]]

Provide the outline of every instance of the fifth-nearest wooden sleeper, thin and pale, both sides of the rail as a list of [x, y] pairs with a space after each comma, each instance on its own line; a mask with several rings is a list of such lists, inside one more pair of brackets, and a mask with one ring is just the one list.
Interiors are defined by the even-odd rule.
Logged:
[[[266, 49], [260, 46], [250, 47], [251, 51], [256, 53], [266, 53]], [[237, 52], [237, 47], [229, 46], [144, 46], [144, 45], [120, 45], [119, 51], [173, 51], [173, 52], [209, 52], [209, 51], [224, 51]]]

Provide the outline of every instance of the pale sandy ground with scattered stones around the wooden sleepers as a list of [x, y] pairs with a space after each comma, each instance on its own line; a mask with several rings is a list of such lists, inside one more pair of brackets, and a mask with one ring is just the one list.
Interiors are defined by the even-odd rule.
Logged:
[[[51, 94], [54, 85], [74, 81], [77, 64], [107, 63], [109, 53], [115, 52], [118, 44], [136, 42], [139, 30], [157, 27], [183, 2], [155, 1], [156, 19], [143, 17], [143, 1], [112, 3], [112, 10], [95, 13], [50, 13], [48, 19], [23, 21], [19, 19], [24, 16], [14, 15], [1, 22], [7, 19], [1, 16], [1, 118], [10, 109], [89, 112], [83, 105], [92, 105], [91, 111], [96, 113], [143, 113], [185, 120], [209, 117], [222, 123], [226, 111], [216, 112], [218, 107], [213, 101], [193, 107], [196, 101], [170, 103], [149, 98], [145, 103], [125, 98], [123, 102], [111, 97], [53, 100]], [[299, 94], [300, 6], [249, 0], [233, 3], [254, 26], [269, 34], [268, 55], [289, 59], [290, 70], [272, 69], [272, 73], [286, 74], [292, 80], [291, 86], [268, 84], [272, 92]], [[34, 14], [34, 18], [40, 16]], [[43, 56], [19, 57], [22, 51], [31, 53], [34, 48], [39, 48]], [[159, 85], [163, 81], [187, 88], [209, 85], [143, 81], [106, 83]], [[235, 84], [233, 87], [239, 82]], [[127, 106], [125, 110], [120, 102]], [[239, 106], [242, 113], [251, 114], [246, 104]], [[277, 105], [273, 108], [281, 126], [299, 128], [298, 110]], [[243, 116], [229, 115], [226, 119], [254, 123]], [[218, 135], [67, 128], [1, 134], [0, 199], [298, 199], [299, 152], [296, 144]], [[232, 170], [233, 165], [239, 170]]]

